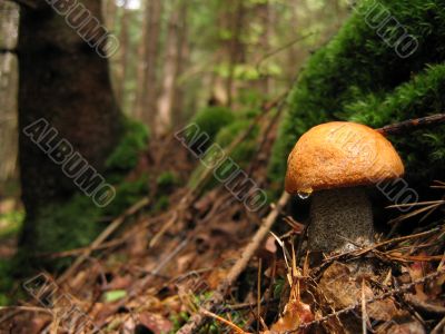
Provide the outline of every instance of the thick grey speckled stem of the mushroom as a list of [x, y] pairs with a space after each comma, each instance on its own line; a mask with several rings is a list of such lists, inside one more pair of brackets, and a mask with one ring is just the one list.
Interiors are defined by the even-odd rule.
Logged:
[[309, 249], [348, 252], [373, 243], [373, 212], [364, 187], [319, 190], [310, 206]]

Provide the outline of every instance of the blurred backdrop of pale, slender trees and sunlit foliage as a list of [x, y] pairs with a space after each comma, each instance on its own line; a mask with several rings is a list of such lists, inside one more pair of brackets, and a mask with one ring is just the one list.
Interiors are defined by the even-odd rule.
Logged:
[[348, 16], [339, 0], [105, 0], [103, 11], [121, 42], [116, 95], [155, 135], [209, 101], [236, 109], [283, 92]]

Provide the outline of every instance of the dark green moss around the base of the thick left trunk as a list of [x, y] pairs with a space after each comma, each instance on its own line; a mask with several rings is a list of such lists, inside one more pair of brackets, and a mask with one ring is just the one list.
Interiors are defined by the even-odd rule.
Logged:
[[[126, 176], [136, 167], [138, 157], [147, 147], [148, 131], [144, 125], [127, 120], [126, 131], [119, 145], [107, 160], [103, 177], [116, 188], [116, 197], [105, 208], [95, 205], [90, 197], [77, 193], [68, 199], [41, 206], [34, 218], [34, 239], [32, 254], [22, 247], [18, 263], [29, 269], [44, 267], [57, 271], [70, 263], [71, 258], [53, 259], [48, 255], [55, 252], [70, 250], [89, 245], [106, 227], [109, 220], [127, 209], [141, 197], [147, 196], [148, 177], [142, 175], [136, 180], [126, 180]], [[43, 255], [43, 256], [41, 256]]]

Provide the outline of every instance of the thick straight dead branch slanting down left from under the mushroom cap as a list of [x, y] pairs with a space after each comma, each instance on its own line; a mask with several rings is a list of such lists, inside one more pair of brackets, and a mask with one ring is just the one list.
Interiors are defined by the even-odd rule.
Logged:
[[[235, 265], [230, 268], [227, 277], [219, 284], [212, 297], [206, 302], [201, 308], [207, 310], [209, 312], [217, 311], [221, 304], [224, 303], [224, 298], [230, 286], [238, 279], [238, 276], [244, 272], [246, 266], [248, 265], [251, 257], [255, 255], [256, 250], [260, 246], [260, 244], [266, 238], [269, 233], [271, 226], [278, 217], [280, 209], [287, 204], [290, 196], [287, 193], [283, 193], [279, 198], [277, 205], [273, 208], [269, 215], [264, 219], [263, 225], [256, 232], [250, 243], [243, 250], [240, 258], [235, 263]], [[190, 320], [185, 324], [177, 333], [180, 334], [191, 334], [197, 333], [197, 330], [206, 323], [206, 314], [202, 311], [199, 311]]]

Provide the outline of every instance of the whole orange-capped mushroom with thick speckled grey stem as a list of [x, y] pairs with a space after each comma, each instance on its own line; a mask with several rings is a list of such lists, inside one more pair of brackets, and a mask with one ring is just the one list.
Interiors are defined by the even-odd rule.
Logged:
[[393, 145], [359, 124], [334, 121], [304, 134], [287, 161], [286, 191], [312, 193], [308, 247], [347, 252], [373, 243], [366, 186], [396, 179], [404, 165]]

